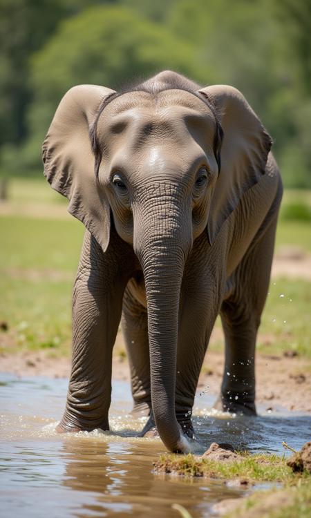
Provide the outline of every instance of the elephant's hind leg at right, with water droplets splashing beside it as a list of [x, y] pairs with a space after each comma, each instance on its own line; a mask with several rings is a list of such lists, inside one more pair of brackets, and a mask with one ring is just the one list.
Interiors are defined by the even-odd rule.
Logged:
[[276, 217], [234, 272], [234, 288], [221, 307], [225, 369], [218, 407], [229, 412], [256, 414], [255, 346], [270, 282], [275, 231]]

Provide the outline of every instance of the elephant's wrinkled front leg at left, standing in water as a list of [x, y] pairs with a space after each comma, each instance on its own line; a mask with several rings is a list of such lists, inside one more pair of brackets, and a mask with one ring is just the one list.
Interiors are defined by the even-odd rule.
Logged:
[[59, 432], [109, 430], [112, 350], [123, 289], [113, 253], [86, 236], [73, 291], [73, 357]]

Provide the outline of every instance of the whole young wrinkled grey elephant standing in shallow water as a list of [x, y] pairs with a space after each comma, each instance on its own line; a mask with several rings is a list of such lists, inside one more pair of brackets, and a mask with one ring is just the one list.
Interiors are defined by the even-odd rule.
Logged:
[[[73, 363], [59, 431], [109, 430], [122, 317], [135, 414], [187, 452], [220, 314], [218, 407], [256, 414], [254, 356], [282, 187], [243, 95], [162, 72], [117, 95], [68, 91], [44, 142], [45, 175], [86, 226], [73, 293]], [[221, 163], [221, 166], [220, 166]], [[229, 374], [228, 374], [229, 373]]]

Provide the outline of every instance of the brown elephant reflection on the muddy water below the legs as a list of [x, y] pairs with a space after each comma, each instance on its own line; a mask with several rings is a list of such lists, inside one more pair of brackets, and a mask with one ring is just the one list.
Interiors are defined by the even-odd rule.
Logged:
[[171, 509], [176, 501], [194, 516], [203, 516], [215, 501], [239, 494], [216, 481], [185, 481], [153, 474], [152, 461], [160, 448], [151, 444], [138, 447], [133, 443], [87, 441], [86, 445], [86, 441], [67, 441], [63, 448], [64, 486], [97, 494], [95, 503], [86, 503], [79, 516], [114, 509], [134, 516], [176, 517]]

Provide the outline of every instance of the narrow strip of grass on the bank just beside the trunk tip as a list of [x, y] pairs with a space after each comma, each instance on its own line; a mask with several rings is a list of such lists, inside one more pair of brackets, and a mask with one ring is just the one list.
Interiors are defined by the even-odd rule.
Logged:
[[[222, 462], [196, 457], [192, 454], [164, 454], [154, 464], [156, 472], [179, 474], [183, 477], [207, 477], [249, 481], [294, 482], [294, 474], [283, 457], [274, 454], [240, 454], [238, 461]], [[308, 476], [308, 475], [303, 475]]]

